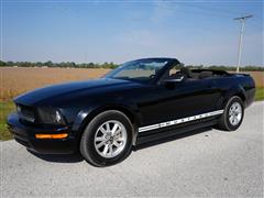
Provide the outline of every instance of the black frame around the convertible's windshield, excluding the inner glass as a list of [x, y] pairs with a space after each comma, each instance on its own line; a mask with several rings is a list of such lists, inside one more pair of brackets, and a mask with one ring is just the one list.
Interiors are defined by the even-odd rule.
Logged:
[[[157, 74], [154, 76], [154, 78], [150, 78], [150, 80], [143, 81], [143, 80], [136, 80], [133, 78], [125, 79], [125, 80], [136, 81], [136, 82], [141, 82], [141, 84], [156, 84], [167, 69], [172, 68], [176, 64], [179, 64], [179, 62], [176, 58], [142, 58], [142, 59], [127, 62], [124, 64], [129, 64], [129, 63], [133, 63], [133, 62], [167, 62], [164, 66], [161, 67], [161, 69], [157, 72]], [[125, 68], [125, 66], [123, 66], [124, 64], [121, 64], [116, 69], [109, 72], [107, 75], [103, 76], [103, 78], [122, 79], [122, 78], [114, 78], [113, 75], [118, 74], [120, 70]]]

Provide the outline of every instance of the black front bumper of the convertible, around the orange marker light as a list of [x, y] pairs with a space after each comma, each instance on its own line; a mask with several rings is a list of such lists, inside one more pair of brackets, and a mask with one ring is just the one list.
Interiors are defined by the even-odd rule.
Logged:
[[[70, 154], [78, 148], [77, 138], [68, 128], [37, 128], [24, 124], [16, 113], [8, 117], [8, 127], [14, 140], [29, 150], [41, 154]], [[65, 139], [36, 139], [35, 134], [68, 133]]]

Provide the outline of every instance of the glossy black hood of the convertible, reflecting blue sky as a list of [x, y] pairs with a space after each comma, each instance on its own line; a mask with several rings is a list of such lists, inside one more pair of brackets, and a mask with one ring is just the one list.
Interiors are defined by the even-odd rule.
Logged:
[[95, 96], [96, 94], [102, 94], [111, 89], [128, 87], [131, 85], [135, 85], [135, 82], [110, 78], [67, 82], [47, 86], [30, 92], [25, 92], [14, 98], [14, 102], [25, 106], [37, 106], [41, 103], [45, 103], [46, 100], [64, 100], [68, 96], [74, 97], [84, 92], [86, 95], [90, 92], [92, 94], [92, 96]]

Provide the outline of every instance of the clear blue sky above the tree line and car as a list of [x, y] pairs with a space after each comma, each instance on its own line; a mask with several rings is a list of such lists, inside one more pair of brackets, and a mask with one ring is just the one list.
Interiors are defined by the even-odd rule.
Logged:
[[123, 63], [175, 57], [189, 65], [263, 66], [263, 1], [1, 0], [1, 56], [13, 62]]

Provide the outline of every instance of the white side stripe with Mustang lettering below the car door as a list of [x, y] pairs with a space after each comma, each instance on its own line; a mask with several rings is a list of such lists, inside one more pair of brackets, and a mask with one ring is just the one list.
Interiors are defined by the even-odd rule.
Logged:
[[185, 123], [185, 122], [189, 122], [189, 121], [194, 121], [194, 120], [200, 120], [204, 118], [213, 117], [213, 116], [218, 116], [218, 114], [222, 114], [222, 113], [223, 113], [223, 110], [218, 110], [218, 111], [207, 112], [207, 113], [187, 117], [187, 118], [183, 118], [183, 119], [162, 122], [162, 123], [157, 123], [157, 124], [146, 125], [143, 128], [139, 128], [139, 132], [145, 132], [145, 131], [151, 131], [151, 130], [155, 130], [155, 129], [160, 129], [160, 128], [166, 128], [169, 125], [176, 125], [176, 124], [180, 124], [180, 123]]

